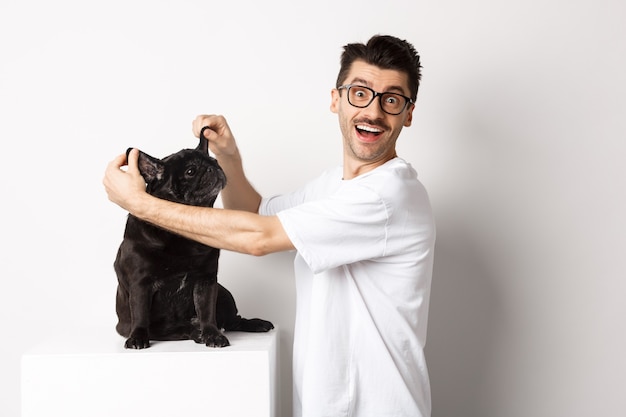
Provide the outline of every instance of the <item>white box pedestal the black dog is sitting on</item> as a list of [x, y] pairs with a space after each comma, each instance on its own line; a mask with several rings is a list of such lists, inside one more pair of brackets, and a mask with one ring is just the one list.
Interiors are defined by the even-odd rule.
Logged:
[[229, 332], [231, 346], [76, 331], [22, 356], [22, 417], [275, 417], [277, 336]]

